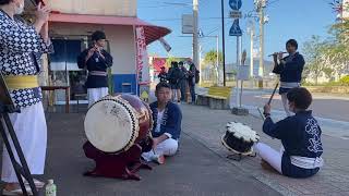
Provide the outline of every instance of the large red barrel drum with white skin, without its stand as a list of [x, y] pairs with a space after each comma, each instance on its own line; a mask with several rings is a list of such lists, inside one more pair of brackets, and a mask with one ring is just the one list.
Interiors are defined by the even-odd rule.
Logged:
[[107, 96], [95, 102], [84, 126], [88, 142], [104, 152], [120, 154], [134, 144], [152, 146], [152, 111], [133, 95]]

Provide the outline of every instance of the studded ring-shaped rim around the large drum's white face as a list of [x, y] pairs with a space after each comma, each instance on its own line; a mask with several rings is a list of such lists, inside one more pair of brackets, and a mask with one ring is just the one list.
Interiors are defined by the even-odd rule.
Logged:
[[[97, 146], [95, 146], [95, 144], [93, 144], [88, 137], [87, 137], [87, 134], [86, 134], [86, 131], [85, 131], [85, 135], [87, 137], [87, 140], [94, 146], [96, 147], [97, 149], [106, 152], [106, 154], [111, 154], [111, 155], [117, 155], [117, 154], [121, 154], [123, 151], [127, 151], [129, 150], [132, 145], [135, 143], [136, 138], [139, 137], [139, 134], [140, 134], [140, 126], [139, 126], [139, 119], [136, 119], [135, 117], [137, 117], [136, 112], [135, 112], [135, 109], [130, 105], [130, 102], [125, 99], [123, 99], [120, 95], [119, 96], [106, 96], [104, 98], [101, 98], [100, 100], [94, 102], [89, 108], [92, 108], [93, 106], [97, 105], [98, 102], [101, 102], [104, 100], [109, 100], [109, 101], [115, 101], [117, 103], [120, 103], [122, 105], [125, 110], [129, 112], [130, 117], [131, 117], [131, 121], [133, 122], [132, 123], [132, 134], [131, 134], [131, 138], [129, 139], [129, 142], [124, 145], [124, 147], [122, 147], [120, 150], [117, 150], [117, 151], [104, 151], [101, 149], [99, 149]], [[88, 110], [89, 110], [88, 108]], [[87, 113], [88, 113], [88, 110], [87, 110]], [[86, 113], [86, 115], [87, 115]]]

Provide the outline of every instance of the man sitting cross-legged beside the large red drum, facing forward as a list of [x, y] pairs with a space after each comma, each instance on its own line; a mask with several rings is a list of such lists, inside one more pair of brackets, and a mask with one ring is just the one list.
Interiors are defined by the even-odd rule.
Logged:
[[178, 150], [182, 112], [178, 105], [170, 101], [171, 87], [168, 83], [159, 83], [155, 95], [157, 101], [151, 103], [154, 119], [153, 150], [142, 154], [142, 157], [161, 164], [165, 163], [165, 156], [173, 156]]

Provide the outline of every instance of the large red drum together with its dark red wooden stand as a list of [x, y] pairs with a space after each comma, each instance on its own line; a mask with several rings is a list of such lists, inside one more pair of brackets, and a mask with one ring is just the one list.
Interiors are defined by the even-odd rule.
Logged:
[[141, 160], [142, 152], [152, 150], [152, 110], [133, 95], [107, 96], [87, 111], [83, 146], [96, 167], [89, 176], [141, 180], [141, 168], [151, 169]]

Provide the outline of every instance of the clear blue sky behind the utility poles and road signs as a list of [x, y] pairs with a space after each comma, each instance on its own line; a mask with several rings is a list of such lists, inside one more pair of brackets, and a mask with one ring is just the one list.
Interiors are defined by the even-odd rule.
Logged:
[[[228, 16], [230, 7], [229, 0], [225, 0], [225, 16]], [[173, 5], [170, 3], [188, 3], [189, 5]], [[221, 20], [220, 20], [220, 0], [198, 0], [198, 27], [204, 35], [219, 35], [221, 40]], [[269, 0], [266, 8], [266, 15], [269, 22], [265, 25], [265, 58], [274, 51], [285, 50], [285, 42], [289, 38], [294, 38], [299, 42], [300, 52], [304, 41], [312, 35], [318, 35], [323, 38], [328, 36], [328, 27], [335, 22], [336, 13], [328, 4], [332, 0]], [[180, 37], [181, 15], [192, 13], [192, 0], [139, 0], [140, 19], [152, 24], [166, 26], [172, 29], [172, 33], [165, 39], [172, 47], [171, 54], [178, 57], [192, 56], [192, 38]], [[253, 0], [242, 0], [242, 13], [248, 13], [254, 8]], [[219, 17], [219, 19], [218, 19]], [[244, 30], [243, 49], [250, 53], [250, 36], [246, 32], [249, 19], [240, 21], [240, 27]], [[236, 37], [229, 36], [229, 29], [232, 24], [231, 19], [226, 19], [226, 61], [236, 62]], [[258, 26], [256, 23], [256, 34]], [[216, 49], [214, 38], [203, 38], [200, 40], [203, 47], [203, 56], [210, 49]], [[255, 47], [257, 42], [255, 44]], [[167, 52], [161, 45], [156, 41], [148, 47], [151, 54], [166, 57]], [[221, 41], [219, 44], [221, 50]]]

